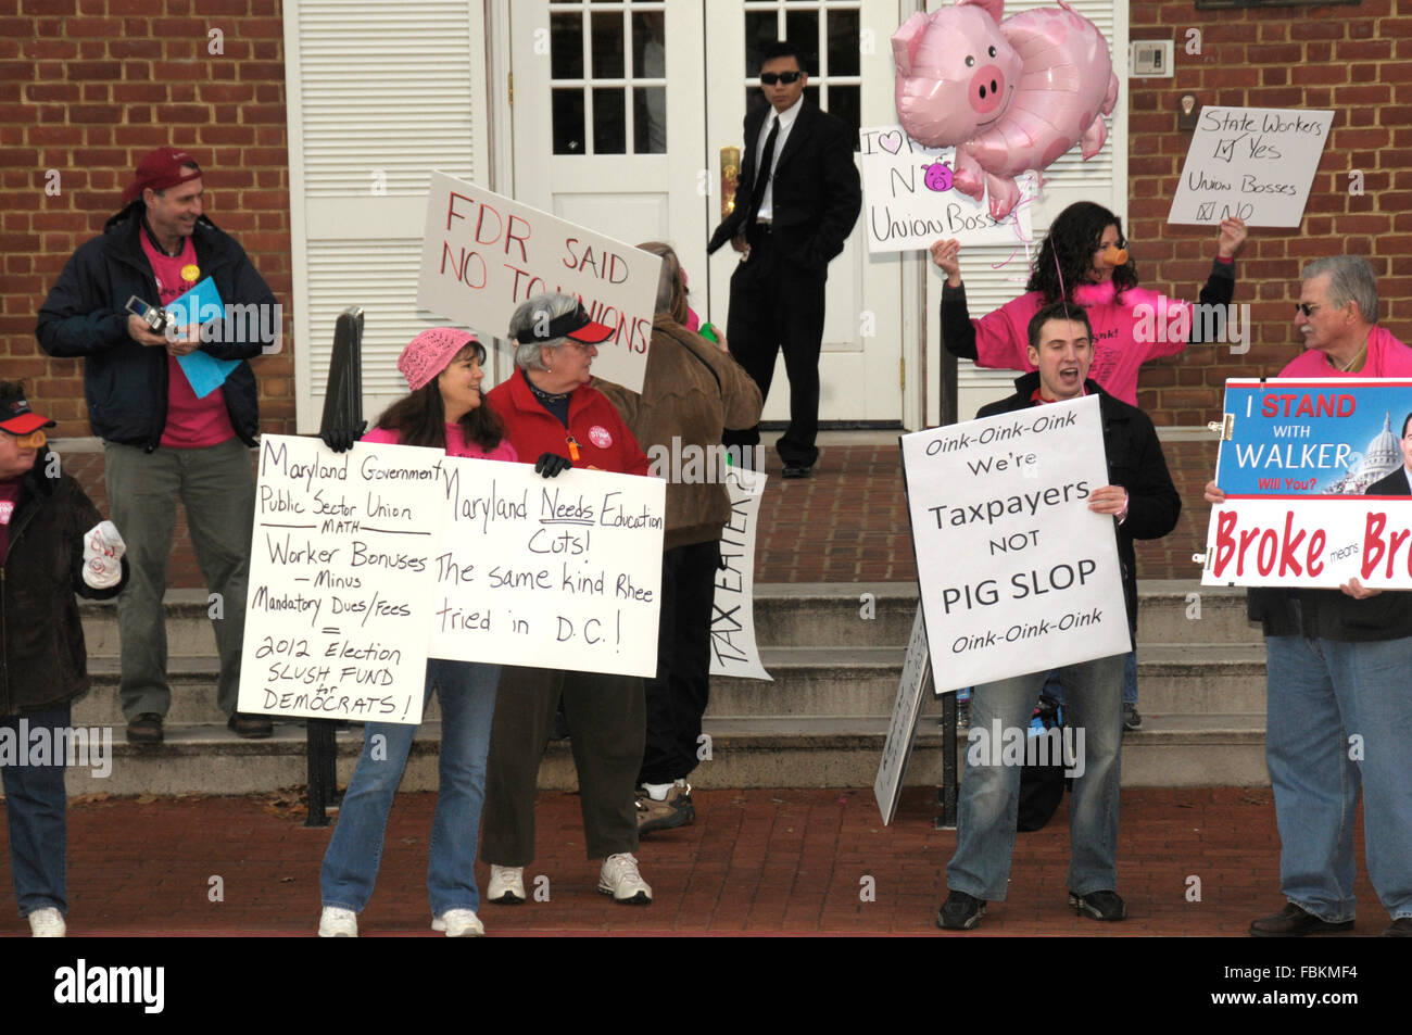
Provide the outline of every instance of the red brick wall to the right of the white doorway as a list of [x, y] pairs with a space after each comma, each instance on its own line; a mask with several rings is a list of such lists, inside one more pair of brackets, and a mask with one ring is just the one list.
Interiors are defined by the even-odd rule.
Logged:
[[[1251, 232], [1237, 260], [1236, 302], [1248, 302], [1254, 345], [1244, 356], [1193, 347], [1144, 367], [1138, 404], [1158, 424], [1216, 417], [1227, 377], [1278, 371], [1298, 354], [1293, 302], [1300, 267], [1358, 254], [1378, 271], [1382, 323], [1412, 342], [1412, 0], [1356, 7], [1199, 11], [1193, 3], [1134, 0], [1134, 40], [1175, 40], [1173, 79], [1128, 83], [1128, 237], [1142, 282], [1195, 298], [1216, 254], [1206, 227], [1166, 225], [1190, 143], [1178, 97], [1203, 104], [1332, 109], [1333, 130], [1303, 227]], [[1187, 28], [1202, 52], [1186, 54]], [[1364, 174], [1363, 196], [1348, 172]]]

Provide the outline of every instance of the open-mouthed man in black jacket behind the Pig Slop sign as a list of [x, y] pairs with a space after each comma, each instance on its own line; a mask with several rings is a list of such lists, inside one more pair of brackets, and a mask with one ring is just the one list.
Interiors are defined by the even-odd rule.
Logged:
[[[1097, 394], [1110, 484], [1093, 490], [1089, 510], [1111, 514], [1123, 569], [1128, 630], [1137, 631], [1137, 576], [1132, 539], [1155, 539], [1176, 525], [1182, 503], [1147, 414], [1114, 398], [1087, 380], [1093, 330], [1082, 308], [1059, 302], [1039, 309], [1029, 322], [1029, 364], [1034, 373], [1015, 380], [1015, 394], [981, 408], [977, 417]], [[1072, 856], [1069, 905], [1099, 921], [1120, 921], [1127, 907], [1117, 888], [1118, 782], [1123, 743], [1123, 654], [1059, 669], [1066, 690], [1067, 722], [1083, 733], [1084, 755], [1067, 758], [1075, 775], [1070, 808]], [[1048, 666], [1027, 675], [977, 686], [971, 696], [971, 730], [1019, 730], [1029, 724]], [[1004, 901], [1015, 843], [1019, 765], [991, 754], [967, 751], [960, 788], [956, 854], [946, 868], [950, 895], [938, 912], [939, 926], [969, 931], [986, 915], [986, 904]]]

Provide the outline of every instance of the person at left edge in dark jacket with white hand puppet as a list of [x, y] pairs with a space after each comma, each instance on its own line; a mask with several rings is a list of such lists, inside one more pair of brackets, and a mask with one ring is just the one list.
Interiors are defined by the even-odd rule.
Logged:
[[103, 600], [127, 578], [117, 530], [45, 449], [51, 426], [0, 381], [0, 772], [14, 897], [38, 938], [62, 938], [68, 912], [69, 706], [89, 688], [73, 594]]

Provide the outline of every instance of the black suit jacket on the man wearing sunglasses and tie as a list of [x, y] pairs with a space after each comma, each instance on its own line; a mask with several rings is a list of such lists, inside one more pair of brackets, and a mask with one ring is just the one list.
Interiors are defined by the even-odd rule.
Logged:
[[[768, 103], [746, 114], [746, 158], [740, 164], [736, 208], [712, 234], [707, 254], [744, 230], [755, 186], [757, 143]], [[764, 184], [761, 184], [764, 186]], [[775, 164], [772, 227], [779, 250], [802, 265], [823, 267], [843, 251], [863, 208], [849, 127], [803, 99], [785, 150]]]

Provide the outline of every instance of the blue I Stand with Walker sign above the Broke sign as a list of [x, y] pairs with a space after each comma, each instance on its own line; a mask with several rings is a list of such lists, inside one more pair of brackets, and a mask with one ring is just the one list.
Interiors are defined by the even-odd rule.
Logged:
[[1406, 378], [1233, 378], [1216, 484], [1227, 497], [1363, 493], [1402, 463]]

